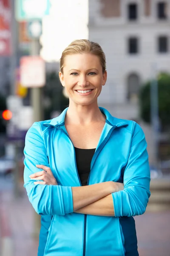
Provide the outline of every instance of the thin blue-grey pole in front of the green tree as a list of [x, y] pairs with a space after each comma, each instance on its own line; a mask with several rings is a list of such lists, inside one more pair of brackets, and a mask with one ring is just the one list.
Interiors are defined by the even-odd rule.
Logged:
[[153, 79], [150, 86], [150, 117], [153, 131], [154, 162], [158, 166], [158, 145], [159, 145], [159, 102], [158, 102], [158, 81], [156, 78], [156, 64], [153, 64]]

